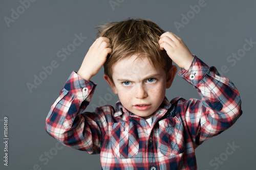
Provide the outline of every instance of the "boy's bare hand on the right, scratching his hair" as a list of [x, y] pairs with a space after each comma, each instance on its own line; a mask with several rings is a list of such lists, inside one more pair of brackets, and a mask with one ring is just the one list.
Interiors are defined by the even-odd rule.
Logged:
[[159, 39], [160, 50], [165, 50], [170, 57], [179, 67], [188, 69], [193, 55], [188, 50], [185, 43], [177, 35], [165, 32]]

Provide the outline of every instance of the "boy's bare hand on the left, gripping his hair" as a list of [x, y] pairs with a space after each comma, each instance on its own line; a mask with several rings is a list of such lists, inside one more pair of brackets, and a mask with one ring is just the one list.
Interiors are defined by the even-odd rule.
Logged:
[[106, 56], [111, 53], [110, 39], [106, 37], [97, 38], [89, 48], [86, 57], [84, 57], [81, 67], [77, 71], [77, 75], [90, 81], [106, 61]]

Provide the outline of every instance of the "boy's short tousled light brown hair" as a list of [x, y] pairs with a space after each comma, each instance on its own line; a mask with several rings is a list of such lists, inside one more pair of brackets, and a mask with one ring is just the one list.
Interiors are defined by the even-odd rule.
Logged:
[[112, 44], [112, 54], [104, 63], [104, 74], [112, 81], [112, 66], [119, 60], [138, 54], [138, 58], [147, 57], [155, 68], [162, 67], [166, 76], [172, 60], [166, 51], [160, 50], [159, 37], [165, 32], [156, 23], [146, 19], [126, 19], [120, 22], [108, 22], [98, 26], [97, 37], [107, 37]]

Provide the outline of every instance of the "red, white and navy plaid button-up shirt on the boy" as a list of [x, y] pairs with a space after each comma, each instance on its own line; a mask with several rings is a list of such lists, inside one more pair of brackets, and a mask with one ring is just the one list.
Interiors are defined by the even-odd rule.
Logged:
[[46, 131], [69, 147], [100, 153], [102, 169], [197, 169], [195, 149], [236, 122], [241, 100], [232, 82], [196, 56], [179, 76], [202, 99], [165, 98], [151, 127], [120, 101], [85, 111], [96, 85], [73, 71], [51, 106]]

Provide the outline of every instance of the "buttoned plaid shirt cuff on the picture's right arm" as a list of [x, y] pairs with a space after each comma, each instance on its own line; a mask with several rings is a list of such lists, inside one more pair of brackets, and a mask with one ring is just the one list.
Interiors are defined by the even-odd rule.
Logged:
[[178, 75], [185, 79], [188, 83], [197, 86], [209, 71], [209, 66], [194, 55], [194, 59], [190, 67], [186, 70], [181, 68]]

